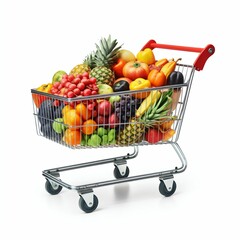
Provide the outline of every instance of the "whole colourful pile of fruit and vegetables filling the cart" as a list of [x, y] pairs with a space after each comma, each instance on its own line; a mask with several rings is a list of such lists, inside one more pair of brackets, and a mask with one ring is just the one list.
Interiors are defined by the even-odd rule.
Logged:
[[179, 60], [156, 60], [149, 48], [134, 55], [111, 36], [102, 38], [82, 63], [69, 73], [55, 72], [50, 83], [32, 94], [41, 133], [86, 147], [171, 139], [181, 87], [155, 88], [184, 83], [175, 70]]

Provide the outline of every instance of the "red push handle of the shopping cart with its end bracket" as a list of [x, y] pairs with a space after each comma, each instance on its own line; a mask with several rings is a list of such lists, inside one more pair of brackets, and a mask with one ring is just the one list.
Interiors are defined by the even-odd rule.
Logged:
[[179, 51], [187, 51], [187, 52], [198, 52], [200, 53], [196, 58], [193, 66], [197, 71], [203, 70], [203, 67], [207, 61], [207, 59], [212, 56], [215, 52], [215, 47], [211, 44], [208, 44], [205, 48], [196, 48], [196, 47], [185, 47], [185, 46], [176, 46], [176, 45], [168, 45], [168, 44], [159, 44], [154, 40], [148, 41], [141, 50], [145, 48], [163, 48], [163, 49], [171, 49], [171, 50], [179, 50]]

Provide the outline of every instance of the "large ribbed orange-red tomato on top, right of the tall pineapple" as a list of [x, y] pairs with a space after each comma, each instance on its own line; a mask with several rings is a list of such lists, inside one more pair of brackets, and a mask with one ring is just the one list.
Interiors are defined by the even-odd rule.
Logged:
[[147, 78], [149, 66], [139, 61], [130, 61], [123, 67], [123, 76], [135, 80], [136, 78]]

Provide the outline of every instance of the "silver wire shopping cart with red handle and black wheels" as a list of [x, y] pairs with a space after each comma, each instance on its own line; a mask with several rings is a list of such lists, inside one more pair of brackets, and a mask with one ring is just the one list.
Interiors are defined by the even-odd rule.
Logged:
[[[77, 191], [80, 196], [79, 207], [86, 213], [94, 211], [98, 206], [98, 198], [94, 194], [93, 189], [107, 185], [156, 177], [160, 180], [160, 193], [169, 197], [176, 190], [174, 175], [183, 172], [187, 167], [186, 157], [177, 142], [183, 123], [194, 72], [195, 70], [200, 71], [203, 69], [207, 59], [214, 54], [215, 48], [210, 44], [205, 48], [158, 44], [154, 40], [148, 41], [142, 50], [145, 48], [161, 48], [195, 52], [199, 54], [193, 65], [177, 64], [175, 70], [181, 72], [184, 77], [184, 82], [182, 84], [76, 98], [64, 98], [40, 92], [36, 89], [31, 89], [32, 96], [35, 96], [35, 98], [37, 96], [38, 100], [42, 103], [41, 105], [44, 105], [44, 107], [41, 108], [39, 107], [39, 104], [37, 104], [38, 107], [36, 106], [36, 102], [33, 103], [33, 114], [38, 135], [72, 149], [99, 149], [113, 147], [133, 148], [132, 153], [123, 156], [57, 167], [42, 172], [42, 175], [46, 178], [45, 188], [48, 193], [52, 195], [58, 194], [63, 187]], [[139, 96], [139, 94], [153, 96], [153, 91], [154, 93], [158, 92], [160, 97], [158, 96], [158, 99], [155, 99], [155, 102], [153, 99], [150, 99], [155, 105], [152, 103], [152, 108], [145, 109], [145, 115], [142, 114], [144, 117], [137, 118], [135, 116], [136, 111], [144, 101], [137, 96]], [[113, 114], [115, 118], [117, 116], [118, 121], [102, 121], [100, 123], [89, 121], [89, 124], [87, 125], [88, 129], [83, 131], [84, 124], [82, 122], [75, 119], [75, 124], [72, 123], [71, 126], [69, 126], [66, 121], [61, 120], [63, 108], [65, 110], [66, 108], [76, 109], [76, 107], [81, 104], [87, 106], [88, 104], [97, 104], [101, 101], [110, 101], [110, 99], [115, 100], [111, 102], [111, 112], [109, 114]], [[156, 107], [157, 103], [159, 103], [158, 107]], [[155, 110], [153, 110], [153, 106], [155, 107]], [[151, 109], [151, 111], [149, 109]], [[154, 118], [151, 120], [149, 115], [156, 114], [156, 111], [161, 117], [157, 120], [154, 120]], [[89, 116], [86, 119], [93, 120], [100, 115], [100, 111], [97, 111], [97, 116], [95, 111], [94, 118], [92, 113], [88, 114]], [[55, 128], [53, 125], [55, 125]], [[69, 128], [72, 129], [69, 130]], [[156, 133], [149, 131], [149, 129], [153, 128], [157, 131], [157, 135]], [[68, 130], [69, 132], [66, 136]], [[181, 165], [170, 170], [129, 176], [127, 160], [137, 157], [139, 146], [161, 144], [169, 144], [172, 146]], [[108, 163], [114, 164], [114, 179], [82, 185], [71, 185], [60, 178], [60, 173], [64, 171]]]

